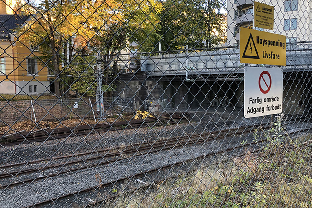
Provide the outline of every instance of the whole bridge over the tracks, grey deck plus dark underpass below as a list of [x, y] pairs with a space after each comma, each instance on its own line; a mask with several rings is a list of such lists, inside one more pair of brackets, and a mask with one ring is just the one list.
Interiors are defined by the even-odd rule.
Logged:
[[[120, 82], [117, 91], [137, 97], [139, 104], [146, 103], [151, 111], [177, 108], [214, 111], [220, 107], [241, 111], [247, 64], [240, 63], [238, 49], [141, 55], [140, 59], [140, 73], [132, 75], [136, 80]], [[312, 45], [288, 50], [286, 60], [286, 66], [273, 65], [284, 72], [283, 112], [312, 114], [312, 99], [308, 96], [312, 89]]]

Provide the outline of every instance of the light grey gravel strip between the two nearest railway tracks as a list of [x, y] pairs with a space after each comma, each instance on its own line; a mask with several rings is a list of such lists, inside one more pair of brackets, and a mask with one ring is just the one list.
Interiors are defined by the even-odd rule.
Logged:
[[[309, 127], [310, 125], [311, 123], [296, 123], [289, 125], [288, 130], [295, 131], [298, 130], [298, 126]], [[121, 177], [131, 177], [135, 173], [144, 172], [151, 168], [159, 168], [178, 161], [185, 161], [211, 152], [236, 147], [243, 141], [251, 142], [253, 139], [252, 133], [244, 136], [230, 136], [196, 145], [188, 145], [184, 148], [166, 150], [157, 154], [136, 156], [95, 168], [44, 178], [25, 185], [12, 186], [1, 190], [0, 207], [26, 206], [37, 201], [44, 201], [47, 198], [54, 198], [90, 186], [97, 186], [99, 181], [95, 177], [96, 173], [105, 183]]]

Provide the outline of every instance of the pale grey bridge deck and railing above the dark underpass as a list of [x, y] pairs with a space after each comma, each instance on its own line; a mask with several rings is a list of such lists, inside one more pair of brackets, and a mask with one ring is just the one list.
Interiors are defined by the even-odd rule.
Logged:
[[[311, 70], [311, 50], [312, 45], [287, 51], [286, 66], [273, 66], [282, 68], [284, 72]], [[141, 71], [150, 76], [185, 75], [188, 79], [191, 75], [243, 73], [245, 65], [240, 63], [239, 49], [141, 56]]]

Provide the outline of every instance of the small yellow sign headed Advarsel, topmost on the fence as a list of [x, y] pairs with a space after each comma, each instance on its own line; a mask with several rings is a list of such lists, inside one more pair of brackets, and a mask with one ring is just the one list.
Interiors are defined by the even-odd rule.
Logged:
[[274, 7], [259, 2], [254, 2], [255, 27], [273, 30]]

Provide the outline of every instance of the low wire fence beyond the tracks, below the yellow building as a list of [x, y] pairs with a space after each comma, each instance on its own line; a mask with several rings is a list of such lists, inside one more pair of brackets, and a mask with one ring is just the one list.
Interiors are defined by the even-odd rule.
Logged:
[[[134, 98], [103, 99], [103, 108], [107, 116], [135, 113]], [[65, 98], [42, 100], [14, 100], [0, 101], [1, 122], [0, 126], [12, 125], [22, 121], [63, 121], [68, 119], [93, 119], [100, 116], [96, 110], [95, 99], [90, 98]]]

